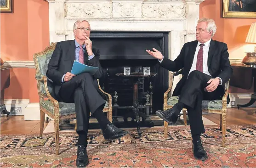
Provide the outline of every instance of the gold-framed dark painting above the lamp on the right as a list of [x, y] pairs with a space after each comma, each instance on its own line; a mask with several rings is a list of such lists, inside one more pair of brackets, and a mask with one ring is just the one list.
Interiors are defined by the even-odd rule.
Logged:
[[222, 17], [256, 18], [256, 0], [223, 0]]

